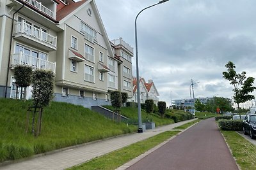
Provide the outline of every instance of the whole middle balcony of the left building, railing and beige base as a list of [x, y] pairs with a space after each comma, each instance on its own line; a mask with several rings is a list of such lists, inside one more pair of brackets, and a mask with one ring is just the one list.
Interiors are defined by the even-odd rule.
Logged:
[[24, 20], [14, 25], [14, 38], [26, 41], [31, 45], [51, 51], [57, 49], [57, 36], [52, 36], [33, 25], [29, 25]]

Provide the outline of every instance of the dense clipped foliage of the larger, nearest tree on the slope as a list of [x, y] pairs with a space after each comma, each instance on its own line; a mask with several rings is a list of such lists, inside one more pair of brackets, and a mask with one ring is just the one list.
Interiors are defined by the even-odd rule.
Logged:
[[32, 76], [34, 106], [44, 108], [53, 99], [54, 73], [38, 69]]

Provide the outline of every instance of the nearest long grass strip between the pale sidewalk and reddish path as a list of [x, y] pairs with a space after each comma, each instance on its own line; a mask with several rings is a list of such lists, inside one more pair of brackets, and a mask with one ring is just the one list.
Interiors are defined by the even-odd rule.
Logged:
[[138, 157], [142, 153], [145, 153], [147, 150], [150, 150], [154, 146], [159, 145], [166, 139], [175, 136], [179, 131], [166, 131], [151, 138], [145, 139], [143, 141], [139, 141], [132, 145], [126, 146], [120, 150], [116, 150], [114, 152], [108, 153], [102, 157], [95, 158], [81, 164], [79, 166], [72, 167], [70, 169], [116, 169], [119, 166], [122, 166], [129, 160]]

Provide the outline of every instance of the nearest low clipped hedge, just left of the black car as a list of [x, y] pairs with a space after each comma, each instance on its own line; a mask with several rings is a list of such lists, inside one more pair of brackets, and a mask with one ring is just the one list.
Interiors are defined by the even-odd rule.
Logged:
[[224, 131], [243, 131], [243, 120], [218, 120], [220, 129]]

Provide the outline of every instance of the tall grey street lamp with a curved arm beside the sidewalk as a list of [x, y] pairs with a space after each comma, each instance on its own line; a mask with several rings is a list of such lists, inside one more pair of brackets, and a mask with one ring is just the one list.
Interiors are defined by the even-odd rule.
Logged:
[[[157, 4], [165, 3], [167, 1], [169, 0], [159, 1], [159, 3]], [[143, 129], [142, 129], [142, 122], [141, 122], [141, 106], [140, 106], [140, 76], [139, 76], [139, 60], [138, 60], [138, 41], [137, 41], [137, 18], [142, 11], [147, 10], [148, 8], [151, 8], [152, 6], [156, 6], [157, 4], [152, 4], [151, 6], [144, 8], [138, 13], [138, 15], [135, 18], [136, 78], [137, 78], [137, 102], [138, 102], [138, 122], [139, 122], [138, 133], [142, 133]]]

